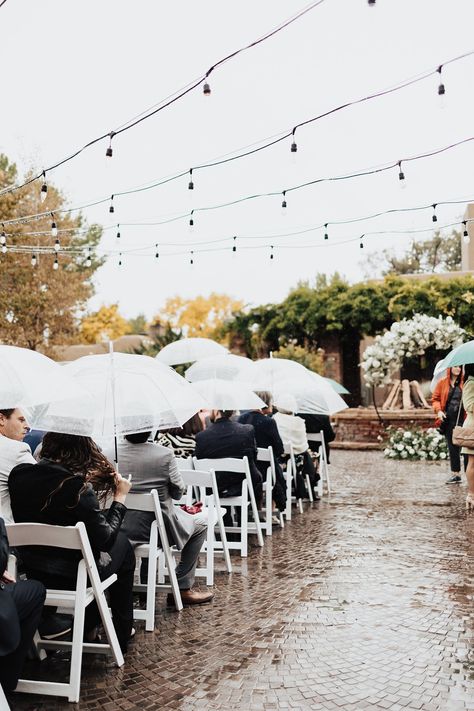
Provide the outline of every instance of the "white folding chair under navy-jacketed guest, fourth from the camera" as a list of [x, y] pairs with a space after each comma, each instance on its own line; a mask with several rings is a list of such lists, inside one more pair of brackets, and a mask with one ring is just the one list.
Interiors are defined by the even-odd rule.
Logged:
[[[236, 472], [244, 474], [242, 481], [242, 490], [239, 496], [226, 496], [222, 498], [222, 502], [232, 508], [240, 508], [240, 526], [226, 526], [226, 532], [240, 533], [239, 541], [229, 541], [228, 547], [230, 550], [240, 551], [240, 555], [245, 558], [248, 555], [248, 534], [256, 533], [259, 546], [263, 546], [262, 528], [260, 518], [258, 516], [257, 503], [255, 501], [255, 493], [253, 490], [252, 477], [250, 476], [250, 467], [248, 457], [242, 459], [223, 458], [223, 459], [196, 459], [194, 457], [194, 466], [196, 469], [203, 471], [216, 472]], [[249, 502], [250, 499], [250, 502]], [[253, 522], [248, 520], [248, 505], [250, 503]]]

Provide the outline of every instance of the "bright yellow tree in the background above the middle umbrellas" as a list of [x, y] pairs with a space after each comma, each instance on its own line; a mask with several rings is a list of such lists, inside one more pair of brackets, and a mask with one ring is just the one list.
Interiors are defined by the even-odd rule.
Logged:
[[243, 307], [241, 301], [227, 294], [212, 293], [208, 297], [183, 299], [174, 296], [168, 299], [156, 319], [167, 323], [185, 336], [213, 338], [233, 314]]

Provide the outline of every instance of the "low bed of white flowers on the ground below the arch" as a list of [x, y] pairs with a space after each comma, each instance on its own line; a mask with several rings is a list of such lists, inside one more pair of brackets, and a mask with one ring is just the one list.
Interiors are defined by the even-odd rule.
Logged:
[[435, 462], [448, 458], [446, 438], [437, 429], [404, 430], [388, 428], [388, 442], [383, 453], [387, 459]]

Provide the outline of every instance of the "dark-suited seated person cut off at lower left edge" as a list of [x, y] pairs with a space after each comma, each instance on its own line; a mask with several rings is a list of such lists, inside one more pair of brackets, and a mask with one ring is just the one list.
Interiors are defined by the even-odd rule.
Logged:
[[13, 691], [33, 641], [46, 597], [37, 580], [20, 580], [9, 575], [8, 538], [0, 518], [0, 684]]

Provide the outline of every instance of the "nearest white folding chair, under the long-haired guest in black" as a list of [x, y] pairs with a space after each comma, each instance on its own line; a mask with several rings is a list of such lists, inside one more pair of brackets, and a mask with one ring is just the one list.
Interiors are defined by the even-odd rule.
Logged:
[[[48, 546], [76, 550], [82, 554], [77, 568], [75, 590], [47, 590], [45, 605], [69, 609], [74, 615], [72, 641], [38, 640], [40, 649], [70, 649], [71, 667], [68, 683], [32, 681], [20, 679], [15, 691], [47, 696], [65, 696], [69, 701], [78, 702], [81, 685], [82, 653], [111, 654], [117, 666], [123, 665], [123, 654], [117, 639], [110, 610], [105, 598], [105, 590], [117, 580], [111, 575], [101, 580], [92, 554], [84, 523], [75, 526], [49, 526], [41, 523], [13, 523], [7, 525], [11, 547]], [[54, 556], [54, 553], [51, 554]], [[89, 577], [90, 587], [87, 585]], [[84, 616], [86, 607], [95, 600], [107, 636], [108, 644], [85, 643]]]

